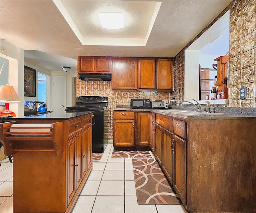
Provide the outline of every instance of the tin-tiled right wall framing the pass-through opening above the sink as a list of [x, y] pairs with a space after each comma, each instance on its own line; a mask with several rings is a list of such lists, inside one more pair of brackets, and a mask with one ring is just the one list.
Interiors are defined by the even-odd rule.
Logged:
[[[174, 57], [174, 91], [177, 105], [184, 100], [184, 50], [201, 36], [218, 18], [230, 10], [229, 107], [256, 107], [256, 0], [234, 0], [196, 38]], [[246, 99], [239, 98], [246, 86]]]

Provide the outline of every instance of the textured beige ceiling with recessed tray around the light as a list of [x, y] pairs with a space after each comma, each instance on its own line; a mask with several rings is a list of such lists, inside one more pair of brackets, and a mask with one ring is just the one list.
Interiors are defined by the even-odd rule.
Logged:
[[[0, 36], [6, 42], [24, 50], [36, 50], [28, 53], [25, 51], [25, 60], [30, 60], [30, 63], [39, 60], [42, 67], [50, 71], [61, 69], [54, 66], [57, 62], [62, 63], [62, 66], [73, 66], [78, 56], [174, 57], [231, 1], [164, 0], [146, 46], [91, 46], [81, 44], [74, 30], [53, 1], [1, 0]], [[150, 23], [147, 17], [152, 15], [152, 8], [155, 4], [156, 2], [153, 1], [63, 1], [63, 5], [68, 6], [67, 12], [74, 19], [73, 22], [82, 28], [81, 33], [90, 38], [94, 36], [111, 37], [110, 32], [99, 29], [88, 17], [96, 10], [106, 10], [115, 5], [126, 10], [126, 13], [130, 14], [133, 19], [138, 19], [133, 20], [134, 24], [130, 26], [128, 35], [134, 37], [134, 34], [137, 33], [137, 37], [143, 37]], [[143, 23], [145, 28], [141, 27]], [[103, 35], [100, 35], [102, 32]], [[125, 33], [127, 34], [127, 32]], [[122, 33], [119, 32], [117, 37], [121, 35]], [[113, 35], [113, 37], [116, 36]], [[45, 57], [46, 55], [48, 56]], [[40, 56], [42, 57], [40, 58]], [[43, 58], [50, 58], [48, 59], [50, 62], [46, 60], [44, 64]], [[68, 62], [67, 58], [73, 59], [72, 62]], [[63, 64], [64, 62], [67, 64]], [[68, 63], [73, 64], [69, 65]], [[47, 64], [53, 65], [48, 68]]]

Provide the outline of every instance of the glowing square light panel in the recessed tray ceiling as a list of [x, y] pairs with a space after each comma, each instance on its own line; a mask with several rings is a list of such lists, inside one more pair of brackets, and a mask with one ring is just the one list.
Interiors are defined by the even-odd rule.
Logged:
[[102, 28], [111, 30], [124, 28], [124, 15], [121, 12], [102, 12], [98, 16]]

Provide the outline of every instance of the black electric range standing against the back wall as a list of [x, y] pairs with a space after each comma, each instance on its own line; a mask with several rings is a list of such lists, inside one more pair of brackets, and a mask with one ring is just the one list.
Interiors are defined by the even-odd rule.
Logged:
[[108, 140], [108, 98], [101, 96], [78, 96], [76, 106], [66, 107], [66, 112], [94, 111], [92, 117], [92, 152], [104, 152]]

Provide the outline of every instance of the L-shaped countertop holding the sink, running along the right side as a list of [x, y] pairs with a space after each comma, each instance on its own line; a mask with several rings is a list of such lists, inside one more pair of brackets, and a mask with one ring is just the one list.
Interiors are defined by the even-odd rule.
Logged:
[[[161, 110], [161, 111], [159, 111]], [[252, 115], [233, 115], [233, 114], [218, 114], [218, 113], [209, 113], [209, 114], [176, 114], [170, 112], [162, 112], [164, 109], [131, 109], [131, 108], [116, 108], [114, 111], [148, 111], [153, 113], [158, 113], [165, 116], [170, 116], [173, 118], [181, 119], [184, 121], [188, 121], [189, 119], [248, 119], [248, 118], [256, 118]], [[181, 109], [180, 109], [181, 110]]]

